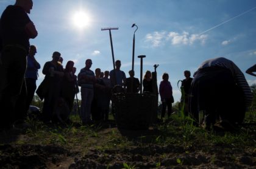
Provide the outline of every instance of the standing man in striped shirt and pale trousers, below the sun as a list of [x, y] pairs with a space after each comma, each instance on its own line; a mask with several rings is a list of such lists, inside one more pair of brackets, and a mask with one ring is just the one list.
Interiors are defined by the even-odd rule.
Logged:
[[91, 102], [93, 101], [93, 84], [96, 82], [95, 74], [90, 70], [92, 61], [85, 61], [85, 67], [78, 74], [78, 85], [81, 86], [81, 118], [83, 125], [91, 123]]

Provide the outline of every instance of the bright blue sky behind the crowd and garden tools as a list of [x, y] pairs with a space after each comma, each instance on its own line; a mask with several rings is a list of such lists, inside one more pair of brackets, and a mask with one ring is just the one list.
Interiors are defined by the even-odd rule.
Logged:
[[[0, 0], [0, 13], [14, 3]], [[86, 15], [84, 29], [73, 22], [79, 11]], [[29, 16], [38, 30], [30, 44], [37, 46], [41, 67], [59, 51], [63, 66], [75, 61], [77, 74], [87, 58], [93, 60], [93, 71], [113, 69], [109, 35], [101, 28], [119, 27], [112, 31], [115, 60], [121, 60], [128, 76], [135, 30], [131, 26], [137, 24], [135, 77], [140, 78], [137, 56], [146, 55], [143, 72], [154, 71], [153, 65], [160, 64], [158, 84], [167, 72], [175, 102], [180, 99], [177, 81], [184, 78], [183, 71], [193, 74], [204, 60], [226, 57], [243, 72], [256, 64], [255, 0], [34, 0]], [[44, 78], [41, 71], [37, 85]], [[249, 84], [256, 83], [255, 77], [244, 75]]]

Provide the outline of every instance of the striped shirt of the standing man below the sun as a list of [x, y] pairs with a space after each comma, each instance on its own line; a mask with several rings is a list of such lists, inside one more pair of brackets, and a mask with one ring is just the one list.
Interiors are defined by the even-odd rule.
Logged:
[[77, 76], [77, 82], [81, 86], [81, 88], [87, 88], [87, 89], [93, 89], [93, 81], [87, 81], [85, 78], [82, 77], [95, 77], [95, 74], [90, 69], [81, 69], [78, 76]]

